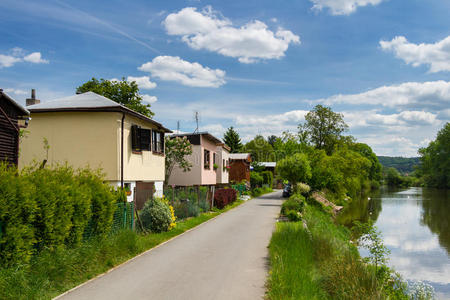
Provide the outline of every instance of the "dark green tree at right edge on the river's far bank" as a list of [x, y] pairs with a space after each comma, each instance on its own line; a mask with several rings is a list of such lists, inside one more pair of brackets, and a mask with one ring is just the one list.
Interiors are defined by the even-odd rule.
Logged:
[[419, 150], [420, 173], [426, 186], [450, 188], [450, 123], [438, 132], [436, 140]]

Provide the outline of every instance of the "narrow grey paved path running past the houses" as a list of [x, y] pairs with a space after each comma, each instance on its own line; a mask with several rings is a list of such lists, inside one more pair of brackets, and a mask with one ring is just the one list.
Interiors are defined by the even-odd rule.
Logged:
[[255, 198], [62, 299], [262, 299], [281, 192]]

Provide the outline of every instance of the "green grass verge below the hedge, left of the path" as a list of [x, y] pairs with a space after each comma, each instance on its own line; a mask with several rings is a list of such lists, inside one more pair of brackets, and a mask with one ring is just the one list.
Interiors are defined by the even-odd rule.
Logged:
[[0, 268], [0, 299], [50, 299], [240, 204], [185, 219], [169, 232], [132, 231], [95, 238], [74, 249], [44, 250], [30, 263]]

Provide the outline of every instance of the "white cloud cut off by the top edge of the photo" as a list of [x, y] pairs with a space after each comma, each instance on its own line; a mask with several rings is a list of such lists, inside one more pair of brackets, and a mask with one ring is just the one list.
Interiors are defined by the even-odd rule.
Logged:
[[383, 0], [310, 0], [314, 10], [328, 8], [332, 15], [350, 15], [358, 7], [367, 5], [378, 5]]

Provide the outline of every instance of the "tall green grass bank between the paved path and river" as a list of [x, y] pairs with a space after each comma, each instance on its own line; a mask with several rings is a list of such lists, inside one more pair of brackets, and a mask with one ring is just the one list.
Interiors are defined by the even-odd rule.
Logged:
[[[407, 299], [395, 281], [365, 264], [351, 232], [329, 213], [307, 205], [302, 222], [279, 222], [269, 252], [269, 299]], [[390, 283], [388, 283], [390, 282]], [[399, 285], [401, 287], [401, 285]]]

